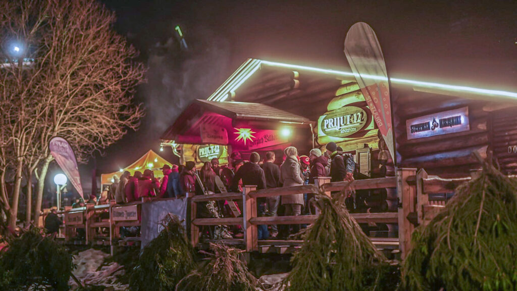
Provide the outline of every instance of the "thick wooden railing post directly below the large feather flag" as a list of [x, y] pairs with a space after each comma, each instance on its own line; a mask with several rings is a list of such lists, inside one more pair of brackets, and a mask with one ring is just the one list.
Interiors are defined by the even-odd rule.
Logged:
[[399, 197], [399, 241], [402, 259], [405, 258], [410, 248], [411, 234], [415, 229], [408, 220], [408, 216], [415, 213], [416, 186], [409, 185], [407, 178], [415, 178], [417, 169], [403, 168], [397, 171], [397, 192]]

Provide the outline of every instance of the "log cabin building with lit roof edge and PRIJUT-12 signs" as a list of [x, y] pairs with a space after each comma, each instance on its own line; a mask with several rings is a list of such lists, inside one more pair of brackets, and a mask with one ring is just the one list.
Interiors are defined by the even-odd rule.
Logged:
[[[393, 78], [390, 89], [399, 167], [467, 177], [479, 168], [478, 152], [517, 173], [517, 93]], [[354, 154], [364, 176], [392, 176], [377, 132], [351, 72], [249, 59], [207, 100], [184, 110], [162, 146], [183, 149], [184, 161], [268, 150], [281, 161], [286, 146], [308, 155], [334, 141]]]

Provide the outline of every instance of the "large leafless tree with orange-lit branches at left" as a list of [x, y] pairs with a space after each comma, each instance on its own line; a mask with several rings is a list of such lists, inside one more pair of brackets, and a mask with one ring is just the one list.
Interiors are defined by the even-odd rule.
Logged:
[[1, 99], [6, 107], [16, 100], [16, 106], [9, 107], [12, 114], [2, 121], [10, 138], [4, 140], [0, 133], [7, 148], [14, 149], [14, 156], [4, 156], [5, 168], [20, 173], [14, 179], [10, 226], [16, 222], [17, 181], [24, 166], [38, 179], [39, 219], [44, 179], [53, 159], [48, 149], [52, 137], [67, 139], [78, 160], [85, 162], [138, 127], [143, 108], [134, 104], [133, 94], [144, 81], [144, 68], [133, 62], [134, 48], [113, 31], [114, 21], [113, 12], [88, 0], [0, 4], [5, 59], [12, 59], [9, 41], [16, 39], [29, 61], [22, 65], [19, 58], [0, 68], [0, 78], [9, 80], [0, 84]]

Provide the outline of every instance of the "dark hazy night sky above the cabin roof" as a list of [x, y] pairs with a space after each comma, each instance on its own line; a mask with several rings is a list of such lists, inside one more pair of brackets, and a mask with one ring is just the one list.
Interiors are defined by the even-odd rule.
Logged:
[[[149, 70], [136, 96], [147, 111], [141, 128], [97, 155], [97, 174], [158, 152], [160, 135], [181, 109], [207, 98], [250, 57], [349, 70], [343, 42], [358, 21], [375, 30], [391, 77], [517, 92], [511, 0], [102, 2]], [[174, 37], [178, 24], [187, 52]], [[170, 149], [162, 154], [174, 159]], [[89, 193], [93, 160], [80, 168]]]

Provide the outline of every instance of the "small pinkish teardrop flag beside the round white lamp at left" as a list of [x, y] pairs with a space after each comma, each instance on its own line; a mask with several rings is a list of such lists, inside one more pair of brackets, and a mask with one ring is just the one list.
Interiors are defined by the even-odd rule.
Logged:
[[77, 159], [73, 153], [70, 143], [62, 137], [54, 137], [49, 142], [50, 154], [56, 159], [57, 164], [65, 172], [66, 176], [84, 199], [81, 177], [77, 167]]

